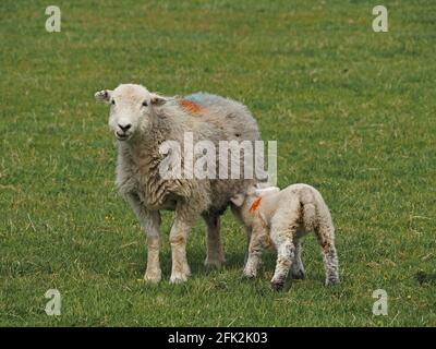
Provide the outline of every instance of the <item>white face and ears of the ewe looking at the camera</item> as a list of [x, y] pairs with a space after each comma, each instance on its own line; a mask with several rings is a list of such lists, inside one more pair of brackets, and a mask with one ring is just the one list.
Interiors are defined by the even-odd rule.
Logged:
[[128, 141], [150, 129], [155, 116], [153, 108], [167, 100], [135, 84], [121, 84], [113, 91], [97, 92], [95, 98], [110, 106], [109, 128], [119, 141]]

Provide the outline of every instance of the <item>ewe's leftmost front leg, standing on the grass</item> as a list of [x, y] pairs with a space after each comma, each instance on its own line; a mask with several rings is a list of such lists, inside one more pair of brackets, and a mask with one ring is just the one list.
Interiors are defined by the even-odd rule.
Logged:
[[126, 198], [147, 234], [147, 267], [144, 279], [150, 282], [159, 282], [161, 279], [159, 263], [160, 214], [158, 210], [146, 210], [134, 194], [128, 195]]

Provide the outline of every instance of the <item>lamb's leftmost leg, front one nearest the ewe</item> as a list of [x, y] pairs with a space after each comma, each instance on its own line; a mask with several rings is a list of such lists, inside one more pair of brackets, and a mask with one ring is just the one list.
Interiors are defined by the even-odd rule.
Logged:
[[268, 230], [261, 225], [254, 225], [249, 244], [249, 257], [245, 262], [244, 275], [253, 278], [257, 275], [262, 252], [268, 244]]

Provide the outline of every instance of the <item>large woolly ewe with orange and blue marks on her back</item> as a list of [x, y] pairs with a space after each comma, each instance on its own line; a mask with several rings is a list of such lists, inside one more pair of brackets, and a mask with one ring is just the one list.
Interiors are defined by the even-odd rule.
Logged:
[[219, 266], [223, 262], [219, 217], [230, 198], [245, 192], [255, 180], [165, 178], [159, 171], [165, 159], [159, 147], [169, 140], [183, 144], [186, 132], [192, 132], [194, 144], [211, 141], [217, 149], [219, 141], [257, 141], [257, 124], [247, 108], [209, 94], [164, 97], [135, 84], [121, 84], [113, 91], [98, 92], [95, 97], [110, 105], [109, 127], [118, 140], [117, 186], [147, 234], [144, 279], [161, 279], [160, 209], [175, 212], [170, 231], [171, 282], [185, 281], [191, 274], [186, 238], [198, 217], [207, 227], [205, 263]]

